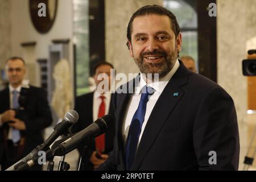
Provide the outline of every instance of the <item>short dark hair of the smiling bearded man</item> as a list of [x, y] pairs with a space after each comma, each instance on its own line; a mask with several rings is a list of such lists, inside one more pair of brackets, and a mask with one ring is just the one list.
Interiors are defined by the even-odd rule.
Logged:
[[[130, 22], [128, 23], [127, 26], [127, 39], [131, 42], [131, 31], [132, 31], [132, 25], [133, 25], [133, 20], [138, 17], [138, 16], [143, 16], [143, 15], [150, 15], [150, 14], [156, 14], [156, 15], [166, 15], [170, 18], [171, 20], [171, 25], [172, 25], [172, 30], [174, 31], [175, 38], [180, 33], [180, 26], [179, 23], [177, 23], [176, 16], [170, 11], [167, 10], [166, 8], [158, 5], [147, 5], [143, 6], [140, 9], [138, 9], [130, 19]], [[127, 42], [126, 44], [129, 48], [129, 44]]]

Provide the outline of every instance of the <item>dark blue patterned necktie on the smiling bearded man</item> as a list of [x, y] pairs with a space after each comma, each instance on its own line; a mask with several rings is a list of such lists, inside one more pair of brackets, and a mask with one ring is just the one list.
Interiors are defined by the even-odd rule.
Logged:
[[131, 125], [127, 137], [125, 150], [125, 162], [127, 170], [130, 170], [131, 164], [133, 164], [135, 153], [137, 151], [139, 135], [141, 134], [141, 127], [144, 122], [146, 113], [148, 96], [154, 92], [155, 90], [150, 86], [144, 86], [142, 88], [141, 100], [139, 101], [138, 109], [135, 111], [133, 119], [131, 120]]

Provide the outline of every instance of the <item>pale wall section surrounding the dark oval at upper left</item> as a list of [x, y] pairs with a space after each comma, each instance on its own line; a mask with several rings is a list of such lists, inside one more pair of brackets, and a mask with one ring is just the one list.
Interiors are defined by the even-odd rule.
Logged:
[[[0, 0], [2, 1], [2, 0]], [[40, 34], [34, 28], [31, 18], [28, 0], [10, 1], [11, 22], [11, 55], [21, 56], [25, 59], [29, 68], [27, 79], [35, 86], [40, 86], [40, 67], [37, 59], [49, 59], [49, 45], [54, 39], [69, 39], [69, 61], [73, 71], [73, 4], [72, 0], [61, 0], [58, 3], [55, 22], [46, 34]], [[2, 2], [1, 2], [2, 6]], [[36, 42], [36, 46], [21, 47], [21, 43]], [[33, 69], [34, 68], [34, 69]], [[73, 75], [73, 72], [72, 72]]]

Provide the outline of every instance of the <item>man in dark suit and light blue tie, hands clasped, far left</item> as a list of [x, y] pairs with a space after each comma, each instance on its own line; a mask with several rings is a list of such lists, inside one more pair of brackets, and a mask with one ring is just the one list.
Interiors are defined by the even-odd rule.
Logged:
[[[0, 92], [0, 164], [6, 169], [44, 142], [43, 129], [52, 123], [46, 92], [24, 83], [21, 57], [6, 61], [9, 86]], [[35, 166], [35, 170], [42, 166]]]

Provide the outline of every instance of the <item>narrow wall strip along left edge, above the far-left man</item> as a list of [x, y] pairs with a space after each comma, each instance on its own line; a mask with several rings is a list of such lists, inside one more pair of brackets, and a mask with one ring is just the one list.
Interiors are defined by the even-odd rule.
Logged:
[[[5, 67], [5, 60], [11, 55], [10, 1], [1, 0], [0, 5], [0, 69]], [[0, 76], [1, 78], [1, 76]]]

